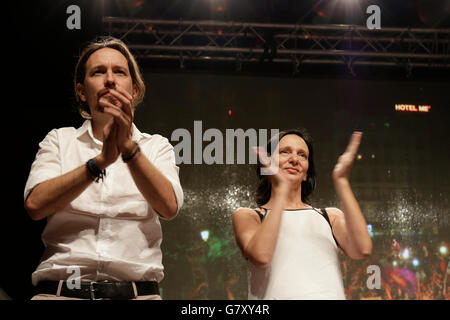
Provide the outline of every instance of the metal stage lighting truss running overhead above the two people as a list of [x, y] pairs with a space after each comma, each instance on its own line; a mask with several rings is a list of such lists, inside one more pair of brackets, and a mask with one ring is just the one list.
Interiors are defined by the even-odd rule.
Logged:
[[450, 69], [450, 29], [104, 17], [140, 59]]

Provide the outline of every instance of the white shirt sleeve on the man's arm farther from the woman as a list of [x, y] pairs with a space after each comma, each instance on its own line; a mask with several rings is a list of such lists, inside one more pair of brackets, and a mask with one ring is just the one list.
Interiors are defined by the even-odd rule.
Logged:
[[59, 155], [58, 131], [53, 129], [39, 143], [39, 150], [31, 165], [25, 184], [24, 201], [33, 188], [41, 182], [61, 175], [61, 157]]

